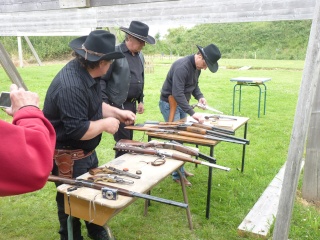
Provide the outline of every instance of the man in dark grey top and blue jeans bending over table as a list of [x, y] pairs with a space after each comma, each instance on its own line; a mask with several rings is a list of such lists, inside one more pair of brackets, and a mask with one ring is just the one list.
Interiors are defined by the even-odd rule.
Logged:
[[[168, 122], [170, 114], [169, 96], [173, 96], [177, 102], [173, 121], [185, 118], [187, 114], [200, 123], [204, 121], [203, 115], [196, 113], [189, 105], [189, 100], [193, 96], [200, 104], [207, 104], [199, 88], [200, 73], [201, 70], [206, 70], [207, 68], [215, 73], [218, 70], [218, 60], [221, 54], [218, 47], [214, 44], [210, 44], [205, 48], [197, 46], [197, 48], [199, 50], [197, 54], [186, 56], [172, 64], [163, 83], [159, 107], [166, 122]], [[193, 176], [193, 174], [188, 173], [183, 168], [181, 169], [181, 173], [185, 176], [185, 184], [191, 186], [186, 177]], [[174, 172], [172, 176], [174, 181], [180, 183], [177, 172]]]

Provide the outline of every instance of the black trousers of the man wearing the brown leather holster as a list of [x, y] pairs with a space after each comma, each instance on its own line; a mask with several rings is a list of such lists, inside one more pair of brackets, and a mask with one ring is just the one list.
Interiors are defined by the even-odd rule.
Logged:
[[[92, 168], [98, 167], [98, 158], [96, 153], [94, 152], [90, 156], [79, 159], [74, 161], [73, 165], [73, 178], [76, 178], [86, 172], [88, 172]], [[52, 174], [57, 175], [58, 174], [58, 168], [56, 165], [54, 165], [54, 168], [52, 170]], [[56, 186], [59, 186], [60, 184], [56, 184]], [[58, 207], [58, 218], [60, 222], [60, 230], [59, 234], [61, 239], [68, 239], [68, 225], [67, 220], [69, 215], [65, 213], [64, 210], [64, 196], [63, 193], [57, 192], [56, 195], [56, 202]], [[72, 211], [72, 209], [71, 209]], [[95, 235], [96, 233], [100, 231], [105, 231], [105, 229], [102, 226], [89, 223], [85, 221], [88, 233], [90, 235]], [[74, 240], [82, 240], [83, 237], [81, 235], [81, 222], [79, 218], [73, 218], [73, 239]]]

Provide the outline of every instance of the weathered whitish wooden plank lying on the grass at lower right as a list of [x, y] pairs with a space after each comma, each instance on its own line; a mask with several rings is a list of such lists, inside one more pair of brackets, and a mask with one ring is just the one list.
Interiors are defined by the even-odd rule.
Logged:
[[[260, 196], [248, 215], [238, 227], [238, 234], [242, 237], [254, 235], [259, 238], [267, 238], [271, 225], [277, 215], [280, 193], [286, 164], [282, 166], [278, 174]], [[300, 170], [302, 170], [303, 164]]]

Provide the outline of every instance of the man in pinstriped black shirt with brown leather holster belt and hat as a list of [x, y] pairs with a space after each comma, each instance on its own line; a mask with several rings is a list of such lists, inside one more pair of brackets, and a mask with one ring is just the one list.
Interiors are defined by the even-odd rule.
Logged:
[[[133, 124], [135, 114], [102, 101], [100, 77], [114, 59], [124, 55], [115, 51], [115, 36], [104, 30], [74, 39], [69, 46], [75, 58], [53, 79], [46, 94], [43, 112], [57, 134], [52, 174], [76, 178], [98, 167], [95, 148], [103, 132], [114, 134], [120, 122]], [[63, 194], [57, 192], [60, 237], [68, 239]], [[86, 222], [92, 239], [109, 239], [107, 231]], [[83, 239], [80, 220], [74, 218], [73, 239]]]

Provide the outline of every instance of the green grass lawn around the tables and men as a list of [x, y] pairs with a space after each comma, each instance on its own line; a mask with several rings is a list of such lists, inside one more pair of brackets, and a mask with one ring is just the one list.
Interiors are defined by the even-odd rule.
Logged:
[[[173, 59], [153, 59], [155, 71], [146, 75], [145, 113], [137, 115], [137, 123], [163, 120], [158, 101], [162, 83], [172, 61]], [[109, 222], [118, 240], [242, 239], [237, 234], [238, 226], [287, 159], [304, 63], [222, 59], [220, 66], [216, 74], [208, 70], [202, 72], [200, 87], [208, 104], [225, 114], [232, 112], [234, 83], [230, 82], [230, 78], [238, 76], [272, 78], [266, 84], [268, 88], [266, 115], [261, 114], [260, 118], [257, 117], [256, 87], [243, 88], [242, 109], [241, 112], [235, 112], [237, 116], [250, 118], [247, 136], [250, 145], [246, 151], [244, 173], [237, 170], [241, 167], [242, 146], [219, 143], [215, 147], [217, 163], [230, 167], [231, 171], [213, 171], [210, 219], [205, 218], [208, 169], [201, 165], [195, 168], [193, 164], [186, 164], [186, 168], [195, 174], [195, 177], [190, 179], [193, 187], [187, 190], [194, 230], [188, 229], [185, 211], [172, 206], [152, 203], [148, 216], [144, 217], [144, 202], [139, 199]], [[240, 71], [238, 68], [241, 66], [252, 66], [252, 69]], [[50, 81], [62, 67], [63, 64], [59, 64], [18, 70], [29, 90], [37, 92], [43, 102]], [[9, 85], [9, 79], [1, 70], [0, 90], [8, 90]], [[11, 121], [10, 117], [2, 112], [0, 118]], [[240, 128], [236, 135], [242, 137], [243, 128]], [[147, 136], [142, 132], [136, 132], [134, 138], [147, 141]], [[97, 148], [100, 164], [113, 159], [113, 144], [113, 138], [103, 134], [101, 144]], [[209, 154], [207, 147], [200, 147], [200, 151]], [[298, 190], [300, 189], [301, 182]], [[182, 201], [180, 186], [173, 183], [170, 177], [157, 185], [152, 193], [155, 196]], [[298, 196], [293, 210], [289, 238], [320, 239], [318, 210], [312, 204], [301, 201], [300, 194]], [[0, 198], [0, 221], [0, 240], [59, 239], [54, 184], [48, 183], [42, 190], [34, 193]], [[84, 228], [83, 235], [86, 236]], [[255, 238], [247, 236], [247, 239]]]

